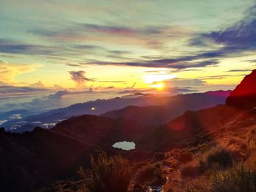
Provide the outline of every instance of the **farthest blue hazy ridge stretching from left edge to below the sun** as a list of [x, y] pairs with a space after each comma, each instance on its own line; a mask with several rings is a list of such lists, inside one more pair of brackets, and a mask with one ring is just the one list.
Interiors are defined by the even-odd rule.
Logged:
[[36, 126], [52, 128], [61, 120], [74, 116], [100, 115], [107, 111], [118, 110], [129, 105], [147, 106], [165, 104], [169, 99], [170, 96], [158, 95], [136, 95], [117, 97], [114, 99], [98, 99], [96, 101], [88, 101], [86, 103], [72, 104], [69, 107], [50, 110], [49, 112], [44, 112], [39, 115], [18, 119], [8, 119], [7, 123], [2, 124], [2, 127], [7, 131], [18, 133], [32, 131]]

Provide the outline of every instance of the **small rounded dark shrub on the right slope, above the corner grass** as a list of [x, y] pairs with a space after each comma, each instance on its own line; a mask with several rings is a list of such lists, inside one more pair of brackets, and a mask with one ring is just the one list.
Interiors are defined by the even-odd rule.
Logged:
[[209, 166], [219, 166], [219, 168], [225, 169], [228, 166], [232, 166], [233, 158], [227, 150], [214, 150], [208, 154], [207, 163]]

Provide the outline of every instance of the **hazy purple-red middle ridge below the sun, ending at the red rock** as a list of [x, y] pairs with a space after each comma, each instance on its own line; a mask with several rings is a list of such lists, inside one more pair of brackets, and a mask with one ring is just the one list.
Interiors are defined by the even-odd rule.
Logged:
[[159, 125], [177, 118], [187, 110], [202, 110], [225, 104], [230, 91], [210, 91], [206, 93], [191, 93], [171, 97], [161, 106], [124, 107], [121, 110], [106, 112], [102, 116], [109, 118], [129, 118], [146, 125]]

